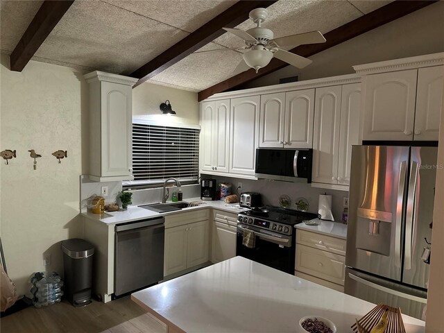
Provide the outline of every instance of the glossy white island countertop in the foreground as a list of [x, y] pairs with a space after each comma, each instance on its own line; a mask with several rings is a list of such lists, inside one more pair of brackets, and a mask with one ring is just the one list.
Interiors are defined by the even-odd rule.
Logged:
[[[178, 332], [297, 332], [302, 316], [323, 316], [339, 333], [374, 304], [234, 257], [133, 293], [146, 311]], [[408, 333], [425, 322], [402, 315]]]

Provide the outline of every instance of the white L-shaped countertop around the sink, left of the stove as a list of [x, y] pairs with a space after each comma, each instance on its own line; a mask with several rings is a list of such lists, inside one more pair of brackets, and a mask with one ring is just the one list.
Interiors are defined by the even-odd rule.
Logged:
[[[239, 203], [224, 203], [221, 200], [207, 200], [201, 201], [200, 198], [188, 198], [184, 199], [185, 202], [191, 203], [193, 201], [200, 201], [203, 204], [198, 205], [196, 207], [187, 207], [182, 208], [182, 210], [175, 210], [173, 212], [165, 212], [158, 213], [152, 210], [146, 210], [145, 208], [141, 208], [138, 206], [128, 206], [128, 210], [123, 210], [121, 212], [105, 212], [103, 214], [94, 214], [92, 212], [82, 213], [83, 216], [86, 216], [88, 219], [92, 219], [94, 221], [99, 221], [101, 223], [105, 223], [108, 225], [119, 224], [137, 221], [141, 219], [149, 219], [156, 216], [164, 216], [170, 214], [178, 214], [182, 212], [189, 212], [191, 210], [202, 210], [205, 208], [216, 208], [218, 210], [224, 210], [225, 212], [231, 212], [237, 214], [245, 208], [239, 207]], [[171, 202], [168, 202], [171, 203]]]

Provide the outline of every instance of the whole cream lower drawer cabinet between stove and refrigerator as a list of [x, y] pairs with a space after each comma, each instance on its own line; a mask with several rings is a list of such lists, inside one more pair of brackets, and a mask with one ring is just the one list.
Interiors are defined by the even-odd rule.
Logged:
[[343, 291], [345, 239], [297, 230], [295, 275]]

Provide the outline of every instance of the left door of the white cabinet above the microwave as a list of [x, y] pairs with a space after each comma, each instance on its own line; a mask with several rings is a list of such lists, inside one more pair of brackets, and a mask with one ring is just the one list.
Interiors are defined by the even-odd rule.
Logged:
[[284, 146], [285, 93], [261, 96], [259, 147]]

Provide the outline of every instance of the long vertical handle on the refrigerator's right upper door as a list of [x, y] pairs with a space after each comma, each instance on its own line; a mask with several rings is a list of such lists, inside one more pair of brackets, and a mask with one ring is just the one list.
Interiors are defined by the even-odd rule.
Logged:
[[413, 247], [413, 228], [415, 223], [416, 186], [418, 184], [418, 162], [411, 162], [409, 193], [407, 194], [407, 216], [405, 220], [404, 268], [411, 269], [411, 251]]

